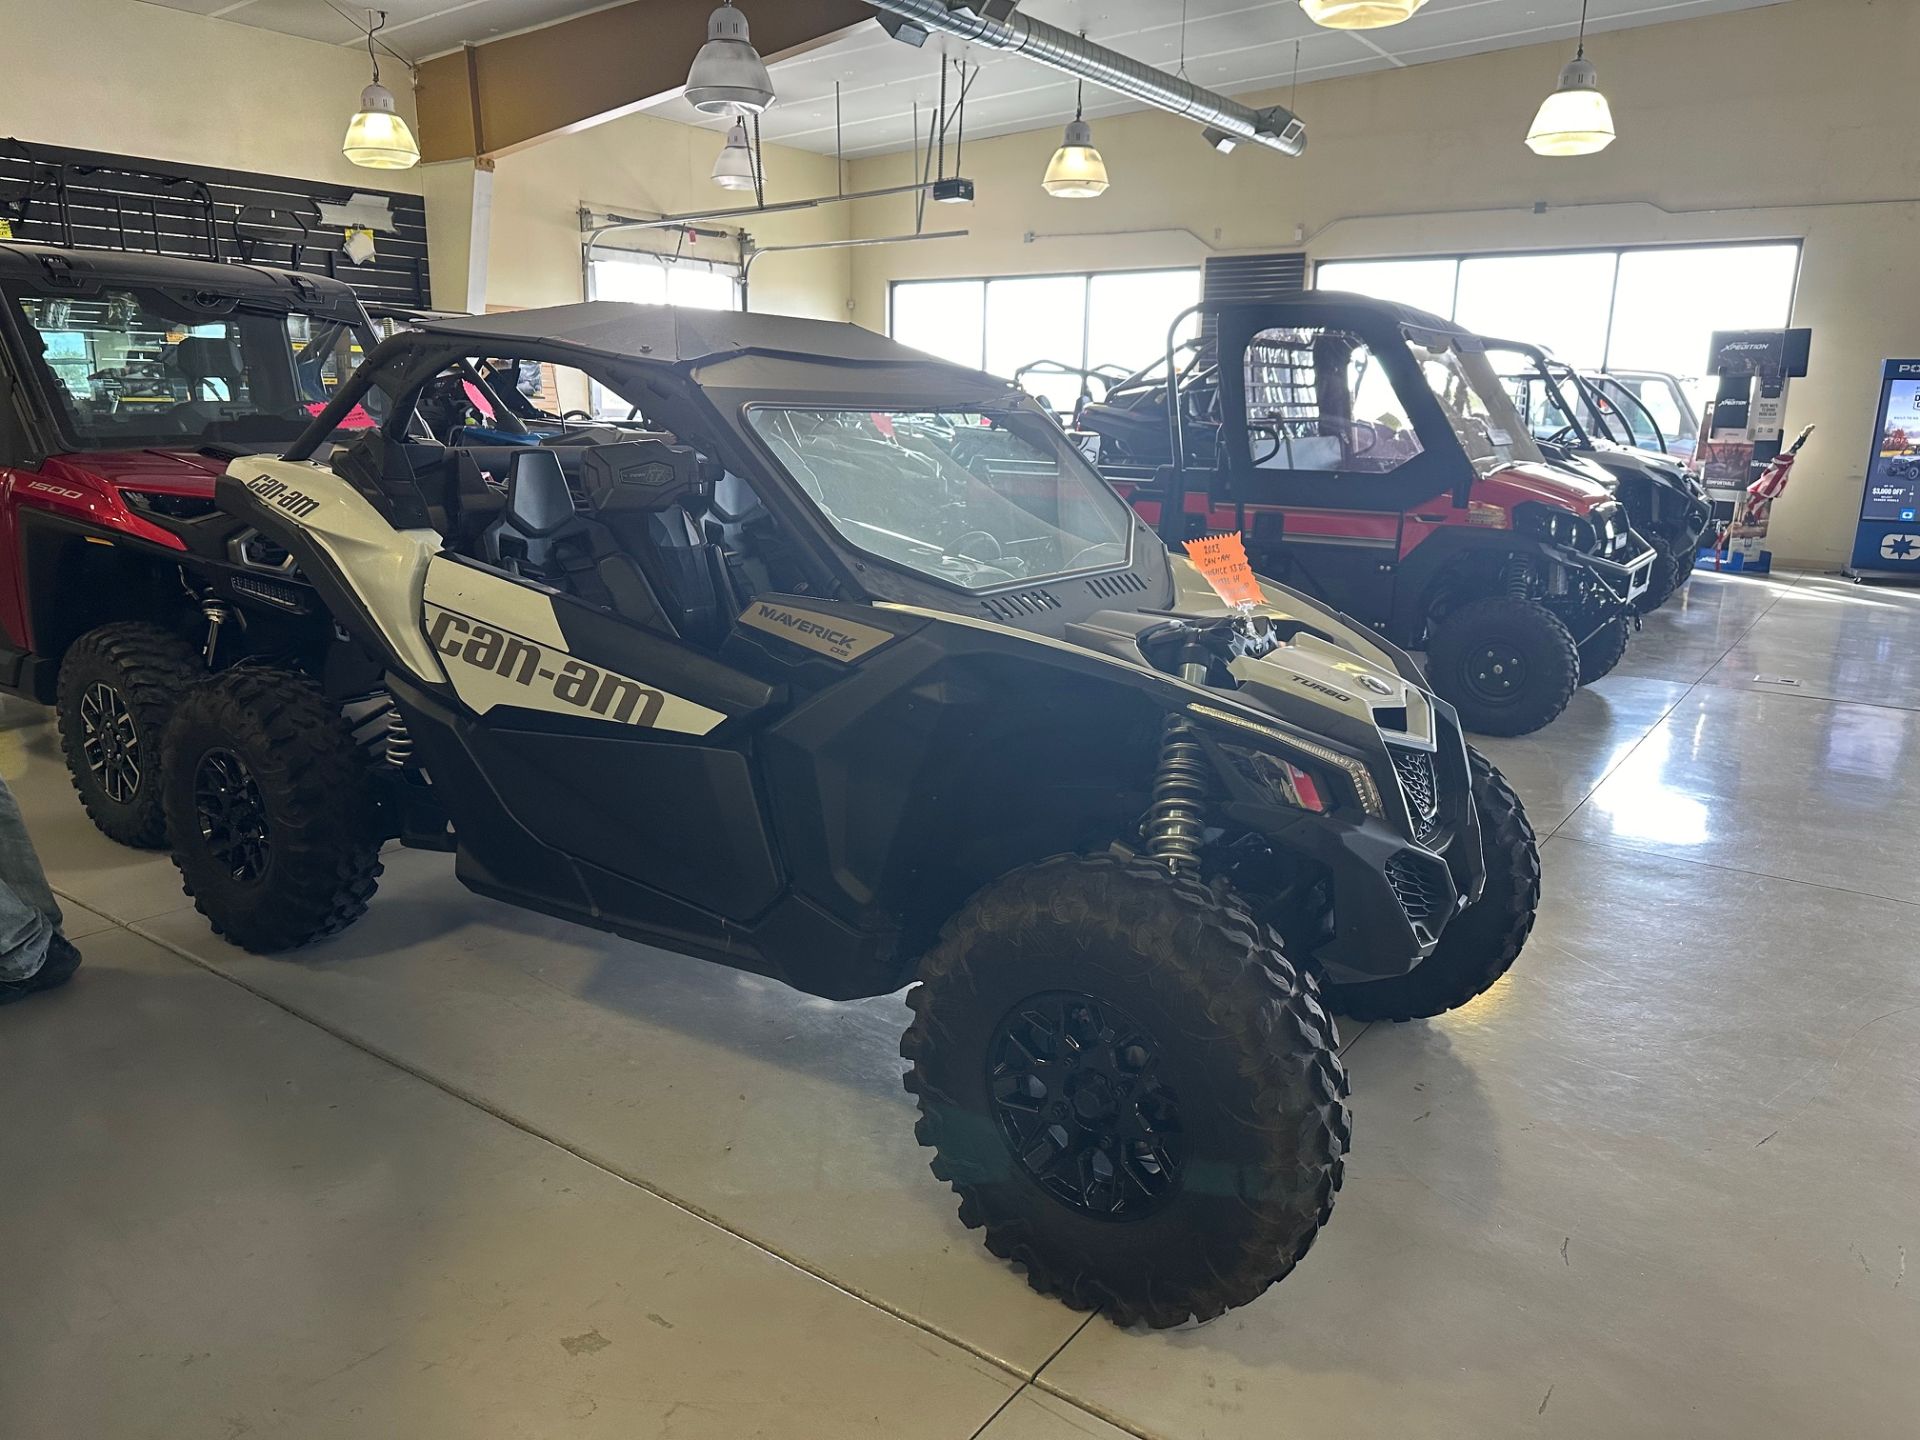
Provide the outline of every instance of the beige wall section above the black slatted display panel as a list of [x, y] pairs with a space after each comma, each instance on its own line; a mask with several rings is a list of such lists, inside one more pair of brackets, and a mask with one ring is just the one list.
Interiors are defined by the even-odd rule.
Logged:
[[[0, 0], [0, 134], [186, 165], [417, 190], [340, 154], [365, 50], [134, 0]], [[413, 119], [403, 65], [382, 79]]]

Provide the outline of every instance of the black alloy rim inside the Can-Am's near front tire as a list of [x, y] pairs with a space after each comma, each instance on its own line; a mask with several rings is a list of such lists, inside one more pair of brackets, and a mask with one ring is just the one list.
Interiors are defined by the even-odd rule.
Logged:
[[1117, 1004], [1073, 991], [1021, 1000], [995, 1027], [987, 1085], [1000, 1139], [1062, 1204], [1131, 1221], [1179, 1187], [1179, 1098], [1160, 1044]]

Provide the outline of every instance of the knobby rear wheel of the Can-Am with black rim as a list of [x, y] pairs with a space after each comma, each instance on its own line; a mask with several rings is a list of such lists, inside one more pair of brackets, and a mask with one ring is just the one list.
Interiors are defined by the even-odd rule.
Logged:
[[338, 935], [380, 877], [367, 760], [321, 691], [240, 668], [194, 687], [165, 743], [173, 862], [194, 908], [257, 954]]

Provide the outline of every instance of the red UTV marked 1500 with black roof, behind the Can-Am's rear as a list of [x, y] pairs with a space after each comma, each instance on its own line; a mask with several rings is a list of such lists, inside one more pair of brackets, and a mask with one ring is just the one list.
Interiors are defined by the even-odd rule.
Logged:
[[0, 242], [0, 693], [58, 708], [111, 839], [165, 841], [175, 699], [317, 612], [286, 551], [228, 534], [215, 478], [286, 449], [372, 346], [326, 276]]

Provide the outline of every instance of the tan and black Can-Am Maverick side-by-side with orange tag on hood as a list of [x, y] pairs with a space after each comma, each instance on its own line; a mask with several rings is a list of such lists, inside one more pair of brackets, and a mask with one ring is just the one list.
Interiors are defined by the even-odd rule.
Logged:
[[[478, 357], [639, 415], [422, 440], [419, 397]], [[382, 424], [313, 463], [363, 401]], [[906, 1087], [962, 1221], [1121, 1323], [1252, 1300], [1327, 1219], [1323, 979], [1436, 1014], [1532, 925], [1521, 804], [1405, 655], [1279, 588], [1225, 605], [1031, 399], [854, 326], [428, 321], [219, 501], [326, 603], [167, 732], [175, 860], [223, 935], [340, 931], [399, 837], [810, 995], [912, 985]]]

